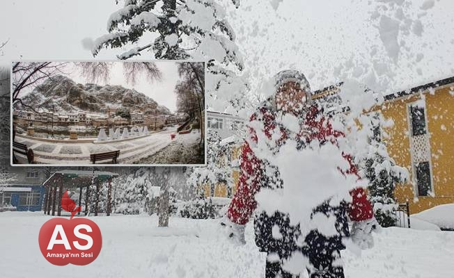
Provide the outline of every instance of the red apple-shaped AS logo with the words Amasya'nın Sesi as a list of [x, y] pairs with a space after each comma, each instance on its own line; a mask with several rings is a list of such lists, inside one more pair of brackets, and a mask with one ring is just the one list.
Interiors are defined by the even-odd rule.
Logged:
[[88, 265], [101, 252], [102, 236], [97, 224], [87, 218], [74, 218], [81, 210], [68, 195], [63, 194], [61, 207], [71, 218], [52, 218], [45, 222], [38, 241], [42, 255], [54, 265]]

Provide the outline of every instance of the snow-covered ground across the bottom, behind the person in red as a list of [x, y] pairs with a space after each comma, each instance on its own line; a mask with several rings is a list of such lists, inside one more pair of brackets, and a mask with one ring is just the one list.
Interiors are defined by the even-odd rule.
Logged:
[[[171, 218], [157, 227], [148, 215], [91, 218], [100, 227], [100, 256], [84, 267], [57, 267], [38, 247], [42, 212], [0, 213], [0, 277], [264, 277], [265, 256], [253, 242], [251, 225], [245, 246], [231, 244], [217, 220]], [[388, 228], [375, 234], [375, 247], [357, 257], [343, 252], [348, 278], [453, 277], [454, 233]]]

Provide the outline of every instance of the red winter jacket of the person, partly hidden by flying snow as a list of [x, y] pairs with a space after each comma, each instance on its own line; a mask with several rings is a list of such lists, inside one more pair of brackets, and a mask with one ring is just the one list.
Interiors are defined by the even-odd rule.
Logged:
[[[265, 122], [265, 134], [271, 138], [274, 124], [270, 117], [272, 114], [267, 113], [268, 111], [260, 111], [263, 113], [263, 120]], [[317, 120], [315, 115], [318, 113], [318, 109], [315, 106], [311, 107], [310, 113], [306, 115], [306, 125], [311, 126], [315, 132], [312, 133], [311, 138], [313, 140], [317, 138], [320, 141], [327, 140], [327, 137], [337, 138], [343, 136], [343, 133], [334, 131], [331, 124], [324, 118], [319, 117]], [[251, 121], [256, 120], [256, 115], [251, 117]], [[269, 124], [267, 124], [267, 122]], [[256, 141], [255, 131], [251, 130], [252, 140]], [[283, 137], [279, 140], [285, 140], [286, 135], [283, 133]], [[345, 174], [355, 174], [358, 176], [357, 167], [352, 163], [352, 157], [350, 155], [343, 155], [345, 159], [350, 163], [350, 170], [347, 170]], [[249, 221], [253, 211], [256, 209], [257, 202], [255, 199], [256, 193], [260, 190], [260, 172], [263, 164], [260, 159], [257, 158], [249, 144], [244, 143], [242, 149], [241, 165], [240, 165], [240, 180], [238, 182], [237, 191], [235, 196], [230, 202], [228, 207], [227, 215], [230, 221], [237, 224], [246, 224]], [[284, 185], [285, 186], [285, 185]], [[304, 185], [302, 185], [304, 186]], [[349, 205], [348, 214], [350, 219], [353, 221], [368, 220], [373, 217], [372, 205], [367, 199], [366, 192], [363, 188], [354, 188], [350, 190], [352, 195], [352, 203]]]

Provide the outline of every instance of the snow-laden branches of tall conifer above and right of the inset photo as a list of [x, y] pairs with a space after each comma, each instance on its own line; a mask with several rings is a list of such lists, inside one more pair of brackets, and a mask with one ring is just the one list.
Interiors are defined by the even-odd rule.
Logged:
[[[237, 7], [240, 2], [233, 0], [233, 4]], [[213, 80], [206, 87], [208, 105], [215, 106], [215, 100], [220, 104], [210, 108], [230, 113], [245, 108], [246, 81], [238, 76], [243, 59], [226, 11], [217, 1], [128, 0], [109, 17], [107, 31], [94, 41], [84, 40], [93, 56], [103, 48], [133, 44], [117, 58], [125, 60], [148, 51], [157, 59], [208, 60], [207, 80]], [[157, 36], [147, 41], [145, 35], [150, 33]]]

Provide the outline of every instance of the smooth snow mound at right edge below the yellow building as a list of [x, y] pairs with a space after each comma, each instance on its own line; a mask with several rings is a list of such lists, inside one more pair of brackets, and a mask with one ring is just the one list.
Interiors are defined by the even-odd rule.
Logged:
[[437, 225], [441, 229], [454, 229], [454, 204], [442, 204], [412, 215], [418, 219]]

